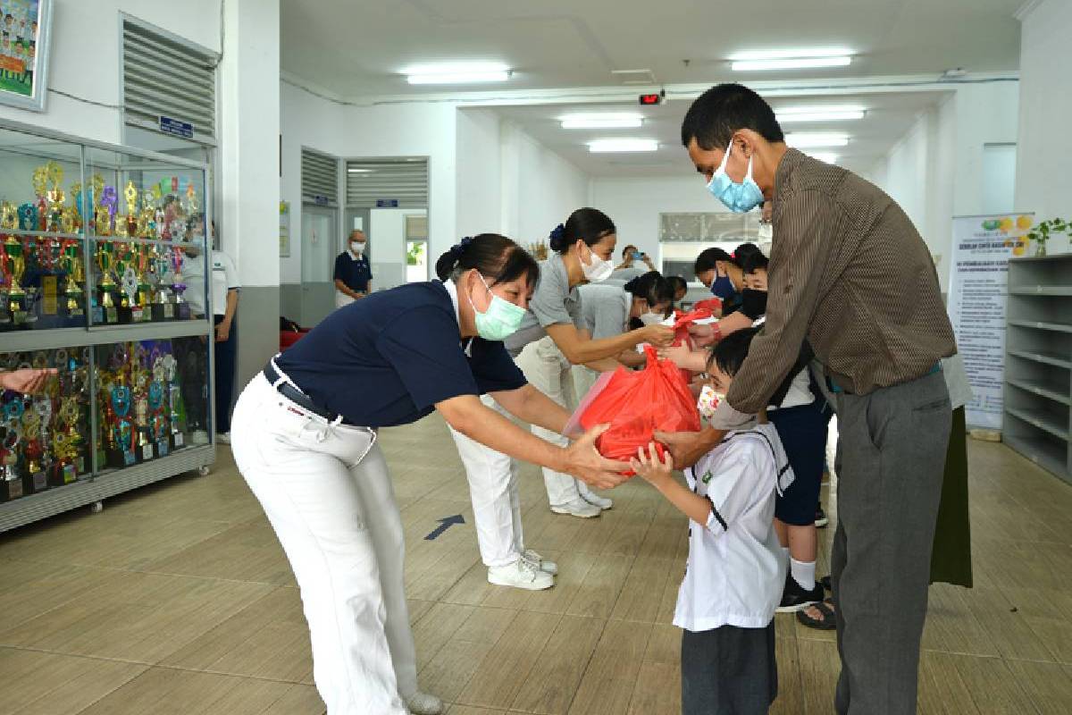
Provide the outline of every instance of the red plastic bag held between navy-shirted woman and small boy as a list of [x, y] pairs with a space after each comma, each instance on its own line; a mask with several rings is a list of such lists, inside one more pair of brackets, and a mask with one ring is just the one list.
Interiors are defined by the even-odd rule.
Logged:
[[[644, 352], [647, 366], [643, 370], [629, 372], [619, 368], [602, 384], [602, 390], [575, 415], [585, 431], [610, 423], [610, 429], [596, 441], [596, 448], [607, 459], [628, 461], [636, 457], [637, 450], [653, 440], [655, 430], [698, 432], [700, 429], [696, 400], [681, 371], [670, 360], [659, 360], [651, 347]], [[594, 391], [595, 388], [590, 394]], [[656, 444], [656, 449], [661, 459], [662, 445]]]

